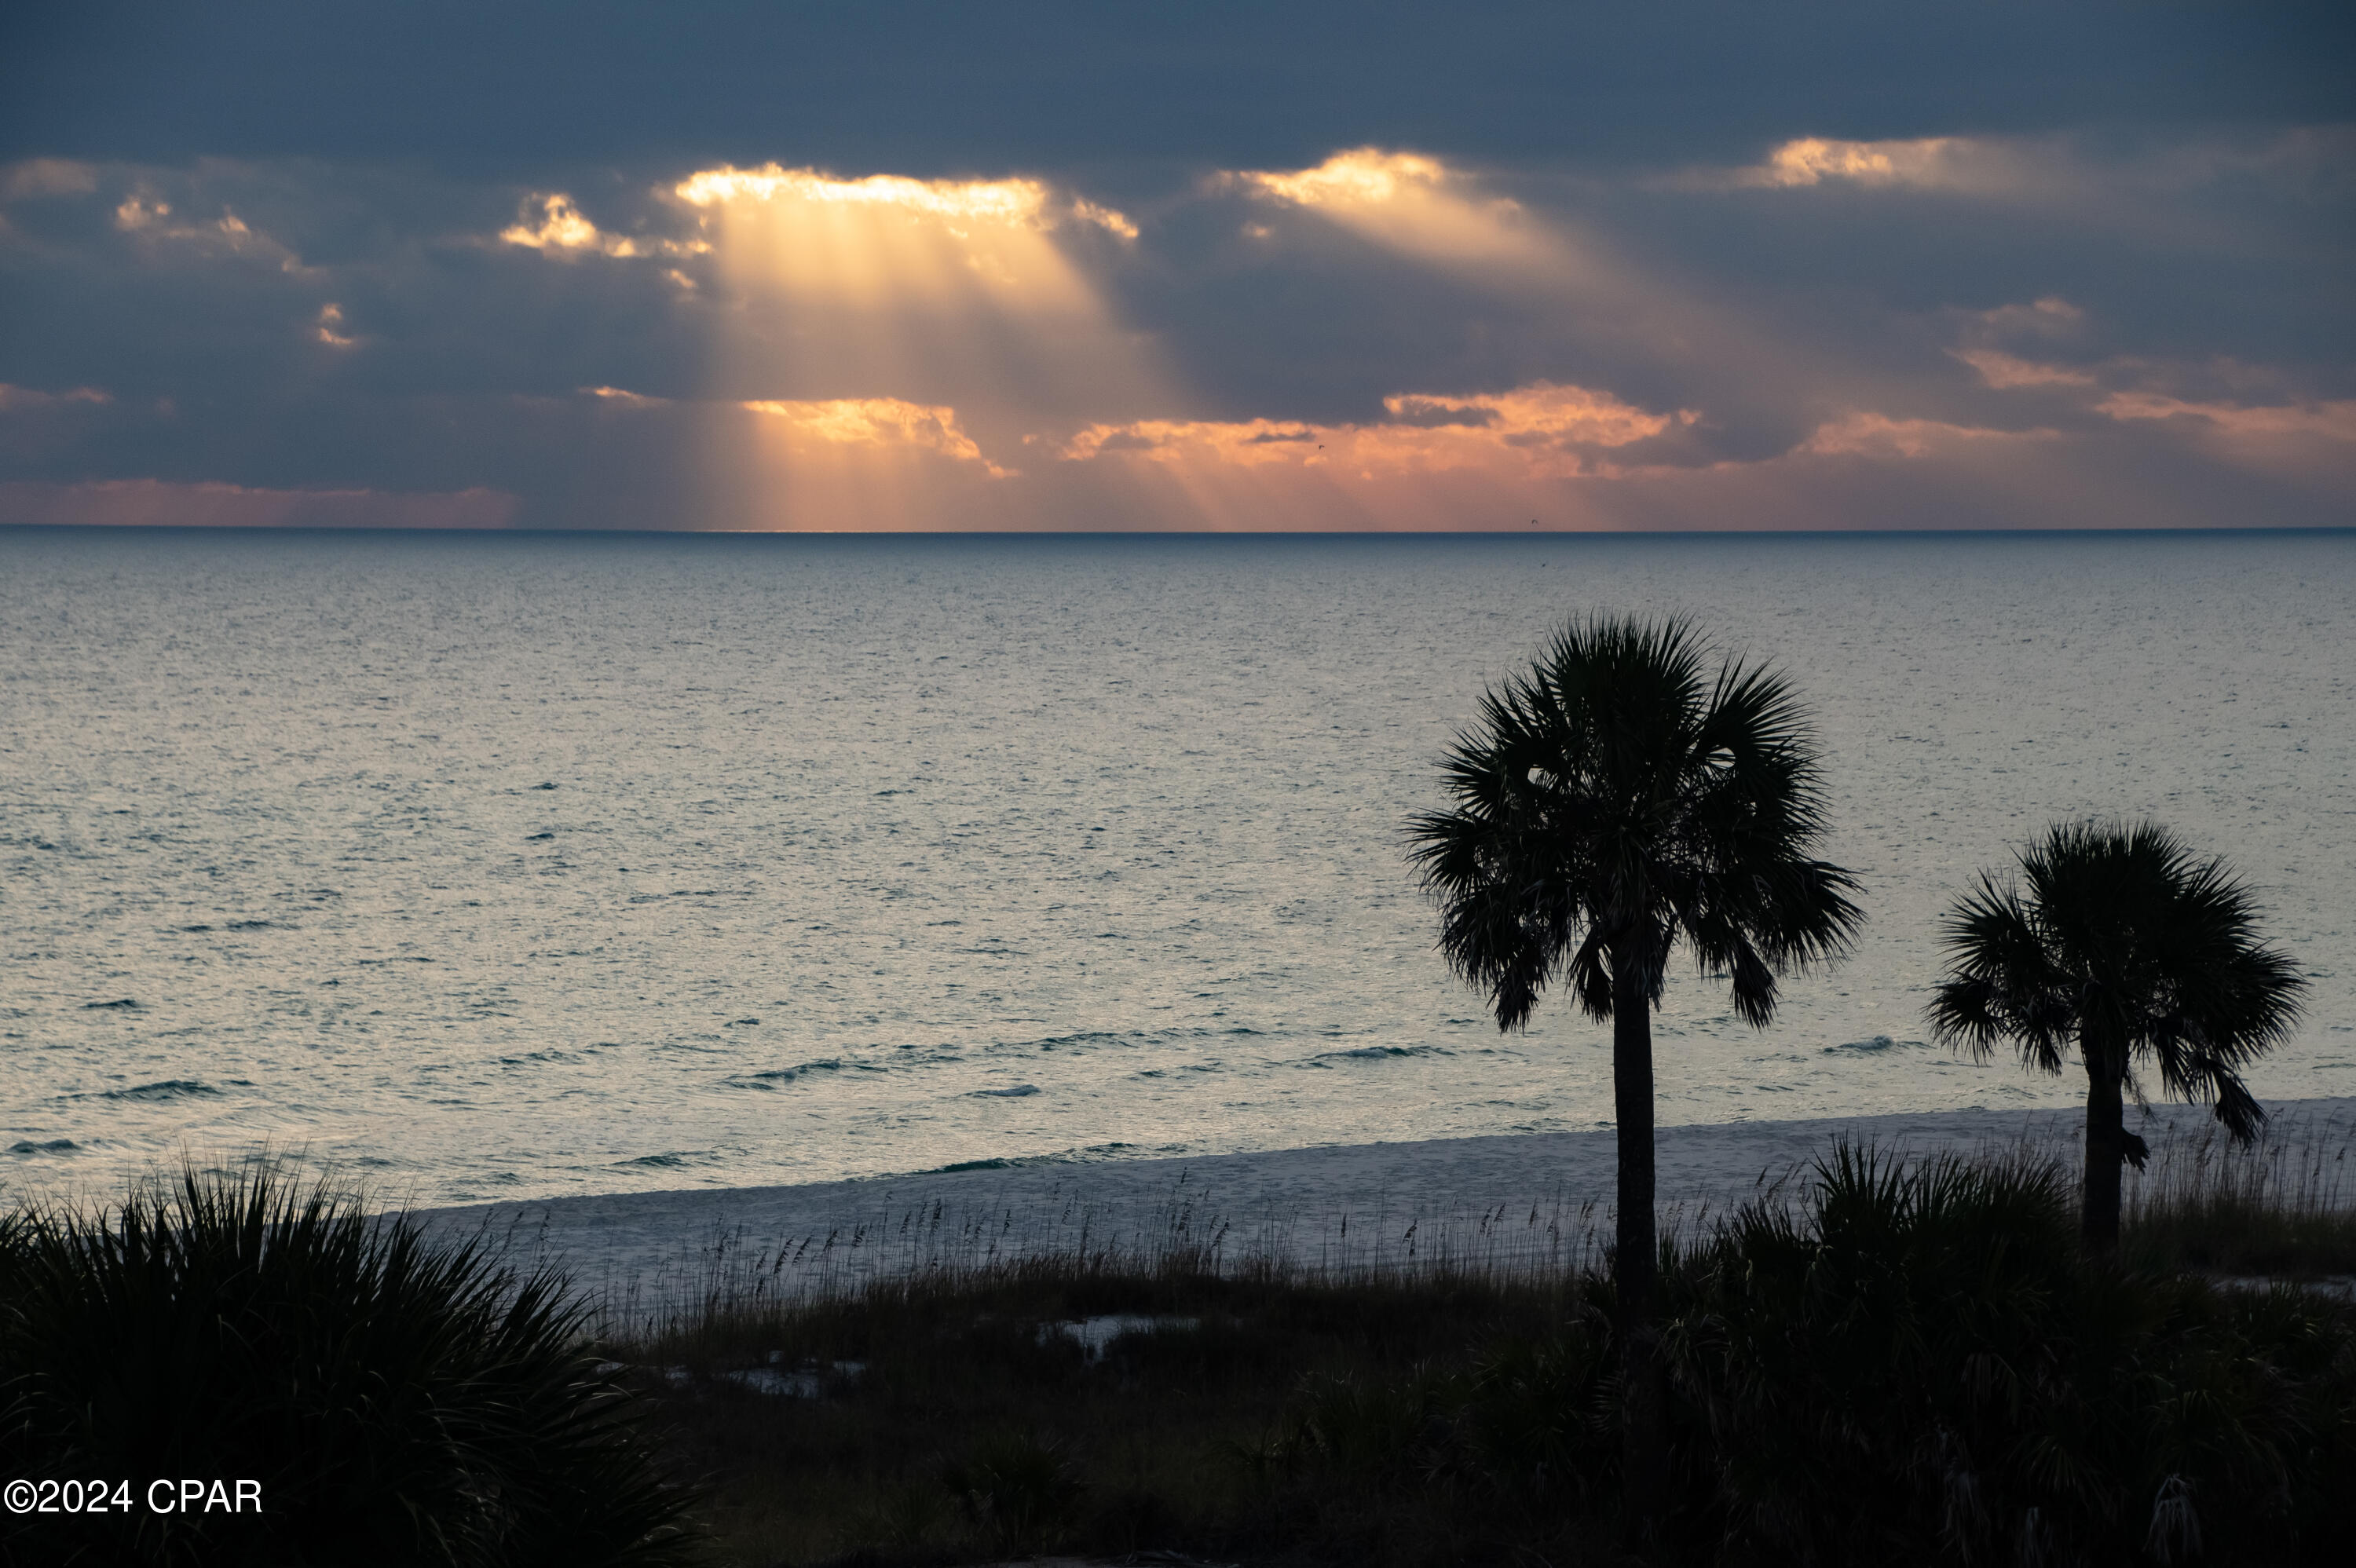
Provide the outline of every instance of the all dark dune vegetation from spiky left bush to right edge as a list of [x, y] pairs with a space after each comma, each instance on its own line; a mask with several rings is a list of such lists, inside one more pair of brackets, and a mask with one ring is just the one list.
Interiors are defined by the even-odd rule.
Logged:
[[[613, 1354], [707, 1474], [716, 1559], [747, 1566], [2337, 1561], [2356, 1314], [2201, 1276], [2179, 1238], [2217, 1172], [2149, 1189], [2123, 1267], [2080, 1260], [2073, 1182], [2036, 1158], [1835, 1149], [1670, 1238], [1682, 1507], [1637, 1559], [1593, 1267], [945, 1260], [709, 1288]], [[2332, 1234], [2311, 1189], [2295, 1238]]]

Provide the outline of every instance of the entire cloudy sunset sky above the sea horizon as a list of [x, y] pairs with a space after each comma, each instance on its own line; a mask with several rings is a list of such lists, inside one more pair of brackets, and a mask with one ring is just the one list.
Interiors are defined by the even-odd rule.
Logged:
[[2356, 7], [19, 0], [0, 523], [2356, 525]]

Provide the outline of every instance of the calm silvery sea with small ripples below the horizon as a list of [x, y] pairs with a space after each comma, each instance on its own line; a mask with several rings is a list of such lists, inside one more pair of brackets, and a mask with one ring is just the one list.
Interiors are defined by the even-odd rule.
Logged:
[[0, 532], [0, 1180], [269, 1140], [422, 1201], [1609, 1118], [1399, 857], [1487, 680], [1692, 614], [1819, 713], [1845, 968], [1677, 979], [1663, 1123], [2066, 1104], [1925, 1045], [2050, 819], [2224, 852], [2356, 1092], [2356, 537]]

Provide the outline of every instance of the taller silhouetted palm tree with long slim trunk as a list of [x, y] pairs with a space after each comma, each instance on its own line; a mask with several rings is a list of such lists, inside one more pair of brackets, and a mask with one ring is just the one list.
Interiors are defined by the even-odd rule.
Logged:
[[1652, 1010], [1680, 942], [1765, 1026], [1776, 977], [1847, 951], [1857, 881], [1809, 859], [1816, 753], [1791, 687], [1727, 662], [1682, 619], [1569, 624], [1482, 697], [1442, 763], [1454, 805], [1409, 826], [1442, 909], [1440, 951], [1522, 1029], [1562, 979], [1612, 1022], [1628, 1504], [1661, 1519], [1668, 1434], [1656, 1358]]

